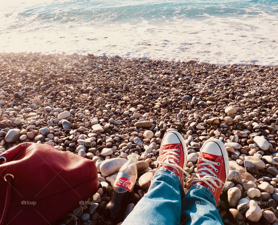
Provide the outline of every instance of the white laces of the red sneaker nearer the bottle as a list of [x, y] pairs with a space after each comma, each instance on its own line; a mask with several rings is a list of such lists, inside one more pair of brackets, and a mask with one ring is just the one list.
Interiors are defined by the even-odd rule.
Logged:
[[[180, 173], [179, 170], [181, 170], [186, 176], [190, 177], [190, 174], [186, 172], [183, 168], [181, 168], [175, 161], [174, 159], [179, 162], [180, 160], [177, 158], [180, 155], [178, 152], [180, 152], [180, 149], [163, 149], [161, 150], [161, 153], [166, 152], [166, 154], [160, 155], [157, 157], [157, 161], [159, 165], [166, 165], [169, 166]], [[176, 157], [177, 156], [177, 157]]]

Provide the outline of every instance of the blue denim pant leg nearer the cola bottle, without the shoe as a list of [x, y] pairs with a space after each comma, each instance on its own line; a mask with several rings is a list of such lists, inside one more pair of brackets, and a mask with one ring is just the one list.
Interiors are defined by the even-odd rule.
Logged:
[[180, 224], [181, 193], [183, 189], [175, 173], [166, 168], [157, 170], [151, 179], [149, 191], [122, 225]]

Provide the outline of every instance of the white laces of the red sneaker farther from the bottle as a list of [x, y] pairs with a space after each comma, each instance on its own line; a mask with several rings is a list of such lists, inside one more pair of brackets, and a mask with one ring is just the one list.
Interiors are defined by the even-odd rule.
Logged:
[[[212, 168], [215, 172], [218, 172], [218, 169], [215, 168], [214, 165], [220, 166], [220, 163], [216, 163], [204, 158], [200, 158], [200, 160], [204, 162], [200, 163], [199, 166], [204, 165], [204, 168], [200, 168], [199, 170], [197, 170], [197, 173], [191, 177], [188, 183], [190, 184], [190, 183], [201, 181], [204, 182], [207, 186], [209, 186], [212, 189], [212, 191], [215, 191], [213, 185], [217, 188], [221, 188], [222, 184], [224, 184], [223, 181], [217, 178], [217, 175], [211, 170]], [[210, 166], [211, 168], [208, 168], [206, 166]], [[208, 171], [210, 174], [204, 172], [204, 170]], [[217, 185], [216, 181], [219, 182], [219, 185]]]

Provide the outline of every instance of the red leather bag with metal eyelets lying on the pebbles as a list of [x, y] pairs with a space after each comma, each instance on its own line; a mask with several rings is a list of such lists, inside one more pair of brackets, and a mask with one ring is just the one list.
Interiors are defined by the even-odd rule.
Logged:
[[50, 224], [97, 191], [94, 162], [45, 144], [0, 155], [0, 225]]

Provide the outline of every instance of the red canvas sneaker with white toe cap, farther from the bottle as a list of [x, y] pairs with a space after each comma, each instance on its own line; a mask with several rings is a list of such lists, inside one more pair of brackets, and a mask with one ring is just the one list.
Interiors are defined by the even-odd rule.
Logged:
[[229, 159], [222, 141], [210, 138], [201, 150], [197, 164], [197, 173], [188, 184], [200, 184], [211, 191], [217, 203], [224, 183], [227, 181]]

